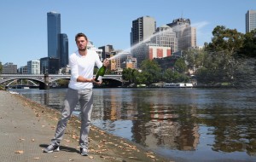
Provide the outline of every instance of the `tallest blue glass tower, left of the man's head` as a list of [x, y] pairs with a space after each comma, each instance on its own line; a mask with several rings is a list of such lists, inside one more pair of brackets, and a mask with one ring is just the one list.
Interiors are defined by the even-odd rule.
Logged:
[[59, 34], [61, 33], [61, 14], [47, 13], [48, 57], [60, 58]]

